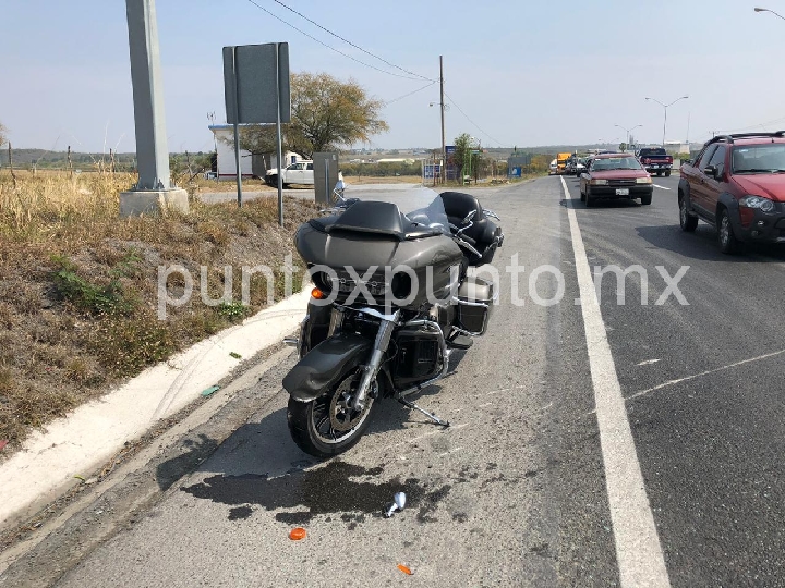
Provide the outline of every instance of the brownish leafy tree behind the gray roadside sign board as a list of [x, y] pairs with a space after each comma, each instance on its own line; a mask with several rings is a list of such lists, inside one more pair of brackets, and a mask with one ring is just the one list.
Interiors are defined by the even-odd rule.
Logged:
[[[283, 148], [310, 159], [315, 152], [367, 142], [389, 128], [379, 115], [383, 106], [353, 79], [341, 82], [325, 73], [292, 74], [292, 117], [281, 128]], [[275, 125], [242, 127], [240, 147], [254, 155], [275, 152]]]

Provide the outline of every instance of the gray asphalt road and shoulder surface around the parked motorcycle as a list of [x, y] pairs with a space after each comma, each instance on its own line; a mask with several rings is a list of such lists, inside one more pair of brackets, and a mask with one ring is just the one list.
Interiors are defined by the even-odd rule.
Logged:
[[[567, 177], [569, 197], [560, 177], [476, 191], [507, 236], [494, 261], [502, 299], [488, 333], [419, 399], [450, 429], [389, 401], [358, 446], [317, 464], [287, 431], [276, 382], [290, 357], [258, 384], [243, 426], [182, 479], [158, 467], [161, 500], [58, 586], [633, 586], [620, 568], [645, 573], [656, 556], [636, 553], [624, 529], [647, 517], [664, 585], [785, 585], [785, 255], [727, 257], [711, 228], [681, 233], [677, 177], [655, 183], [651, 206], [591, 209]], [[410, 195], [384, 197], [404, 207]], [[505, 271], [514, 256], [517, 292]], [[648, 289], [628, 278], [624, 305], [604, 277], [607, 340], [577, 303], [587, 265], [648, 277]], [[668, 277], [689, 266], [677, 284], [688, 305], [673, 294], [656, 304], [667, 291], [657, 266]], [[626, 414], [603, 420], [601, 389], [616, 382]], [[627, 422], [629, 446], [616, 434]], [[625, 455], [621, 487], [642, 475], [631, 491], [607, 470]], [[407, 507], [384, 518], [399, 490]], [[295, 526], [305, 540], [289, 540]]]

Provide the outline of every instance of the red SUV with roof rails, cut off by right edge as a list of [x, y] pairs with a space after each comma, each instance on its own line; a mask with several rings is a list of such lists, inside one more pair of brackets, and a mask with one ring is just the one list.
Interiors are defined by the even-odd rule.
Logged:
[[720, 248], [741, 242], [785, 243], [785, 131], [722, 135], [681, 166], [681, 230], [698, 219], [717, 229]]

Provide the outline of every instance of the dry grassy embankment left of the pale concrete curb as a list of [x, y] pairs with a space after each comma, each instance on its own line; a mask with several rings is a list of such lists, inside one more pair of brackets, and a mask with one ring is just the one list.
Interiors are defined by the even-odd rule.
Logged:
[[[275, 199], [235, 205], [192, 204], [188, 216], [118, 217], [121, 174], [0, 173], [0, 440], [19, 448], [32, 428], [96, 397], [124, 378], [261, 309], [264, 277], [249, 307], [192, 301], [156, 316], [157, 268], [179, 264], [198, 285], [224, 289], [224, 266], [278, 268], [299, 224], [315, 205], [286, 201], [276, 223]], [[176, 293], [177, 280], [169, 280]], [[282, 294], [276, 279], [276, 293]], [[176, 294], [172, 294], [176, 295]]]

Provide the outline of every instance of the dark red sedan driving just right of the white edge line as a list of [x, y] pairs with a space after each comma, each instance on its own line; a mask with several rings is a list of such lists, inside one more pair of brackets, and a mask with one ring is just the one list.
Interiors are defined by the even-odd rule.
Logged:
[[653, 192], [651, 175], [630, 154], [595, 156], [580, 177], [581, 200], [588, 207], [599, 198], [640, 198], [650, 205]]

